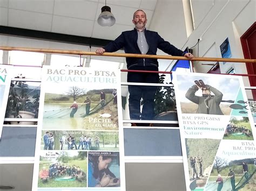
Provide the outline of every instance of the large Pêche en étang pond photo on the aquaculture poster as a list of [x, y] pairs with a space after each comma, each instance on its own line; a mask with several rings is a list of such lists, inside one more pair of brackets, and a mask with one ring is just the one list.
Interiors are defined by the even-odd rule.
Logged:
[[45, 89], [43, 129], [118, 130], [117, 115], [116, 89], [55, 83]]

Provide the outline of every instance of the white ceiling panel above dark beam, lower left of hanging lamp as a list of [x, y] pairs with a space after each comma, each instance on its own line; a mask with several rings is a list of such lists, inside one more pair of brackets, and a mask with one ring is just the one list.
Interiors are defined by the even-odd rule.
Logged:
[[51, 32], [91, 37], [93, 21], [53, 16]]

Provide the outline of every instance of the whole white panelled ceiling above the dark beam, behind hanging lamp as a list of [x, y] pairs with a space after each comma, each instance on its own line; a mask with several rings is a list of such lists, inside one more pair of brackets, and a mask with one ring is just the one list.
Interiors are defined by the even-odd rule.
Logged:
[[113, 40], [133, 29], [132, 16], [145, 10], [150, 25], [157, 0], [107, 0], [116, 24], [97, 23], [104, 0], [0, 0], [0, 25]]

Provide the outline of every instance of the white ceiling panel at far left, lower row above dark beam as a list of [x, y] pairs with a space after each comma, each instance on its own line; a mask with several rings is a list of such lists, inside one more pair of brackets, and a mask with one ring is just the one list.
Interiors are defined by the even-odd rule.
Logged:
[[51, 30], [52, 16], [44, 13], [9, 9], [9, 26], [38, 31]]

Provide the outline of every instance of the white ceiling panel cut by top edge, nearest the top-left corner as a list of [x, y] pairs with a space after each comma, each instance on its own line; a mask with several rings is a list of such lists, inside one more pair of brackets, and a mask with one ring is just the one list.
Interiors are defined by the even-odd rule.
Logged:
[[9, 8], [19, 9], [24, 11], [33, 11], [52, 14], [54, 1], [52, 0], [33, 0], [33, 1], [21, 1], [11, 0], [9, 2]]

